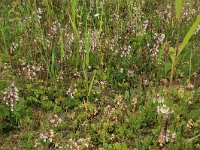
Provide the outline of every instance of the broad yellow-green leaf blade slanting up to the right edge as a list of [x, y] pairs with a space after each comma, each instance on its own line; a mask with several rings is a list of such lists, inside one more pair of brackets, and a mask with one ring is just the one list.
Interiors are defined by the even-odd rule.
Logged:
[[200, 15], [197, 16], [194, 24], [192, 25], [192, 27], [190, 28], [190, 30], [188, 31], [188, 33], [186, 34], [185, 38], [183, 39], [183, 42], [180, 46], [180, 49], [178, 51], [178, 55], [179, 56], [181, 54], [181, 52], [183, 51], [183, 49], [185, 48], [185, 46], [187, 45], [187, 43], [189, 42], [192, 34], [195, 32], [195, 30], [197, 29], [198, 25], [200, 23]]

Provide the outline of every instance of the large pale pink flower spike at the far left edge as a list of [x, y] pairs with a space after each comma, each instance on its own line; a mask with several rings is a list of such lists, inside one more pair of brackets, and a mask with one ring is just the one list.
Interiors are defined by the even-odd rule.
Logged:
[[10, 111], [14, 111], [14, 104], [19, 101], [18, 92], [19, 91], [14, 82], [4, 92], [3, 101], [10, 108]]

